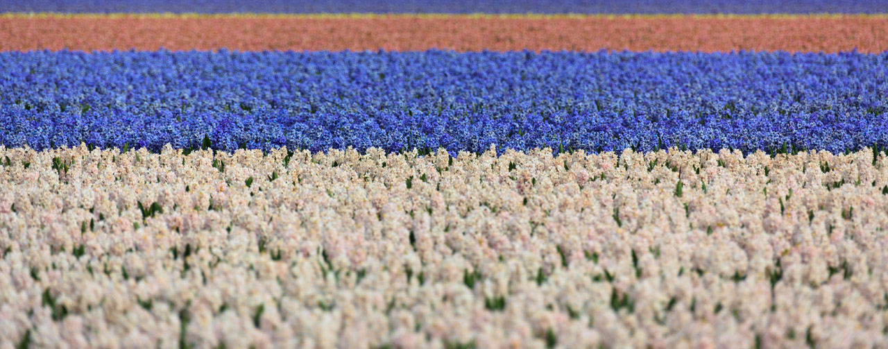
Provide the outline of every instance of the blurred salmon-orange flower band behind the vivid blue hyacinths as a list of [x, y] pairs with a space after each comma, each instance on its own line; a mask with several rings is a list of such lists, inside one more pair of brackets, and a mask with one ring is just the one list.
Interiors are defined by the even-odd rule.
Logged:
[[884, 52], [884, 16], [5, 16], [0, 51]]

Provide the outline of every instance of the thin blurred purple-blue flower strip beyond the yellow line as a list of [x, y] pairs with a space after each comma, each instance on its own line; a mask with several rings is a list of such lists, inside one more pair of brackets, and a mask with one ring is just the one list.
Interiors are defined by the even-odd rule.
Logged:
[[883, 13], [880, 0], [31, 0], [0, 12], [272, 13]]

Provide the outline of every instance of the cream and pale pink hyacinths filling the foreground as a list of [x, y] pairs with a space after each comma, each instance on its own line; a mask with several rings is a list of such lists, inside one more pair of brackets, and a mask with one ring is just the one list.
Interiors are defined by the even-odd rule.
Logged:
[[884, 348], [886, 229], [869, 150], [0, 147], [0, 347]]

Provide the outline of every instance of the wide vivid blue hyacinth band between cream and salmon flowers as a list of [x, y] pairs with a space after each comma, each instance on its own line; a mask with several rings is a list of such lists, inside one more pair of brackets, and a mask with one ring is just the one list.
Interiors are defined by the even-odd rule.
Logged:
[[888, 147], [888, 53], [3, 52], [0, 144]]

